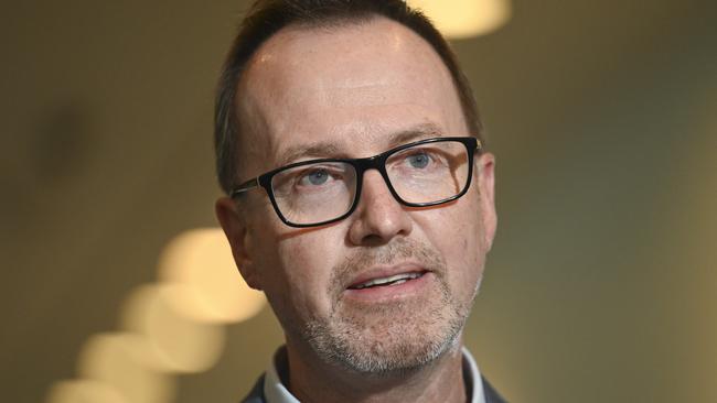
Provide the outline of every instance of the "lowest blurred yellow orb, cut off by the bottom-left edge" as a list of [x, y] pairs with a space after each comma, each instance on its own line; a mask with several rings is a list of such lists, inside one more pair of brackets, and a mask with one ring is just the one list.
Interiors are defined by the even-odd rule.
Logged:
[[45, 403], [131, 403], [113, 385], [89, 380], [57, 382], [50, 389]]

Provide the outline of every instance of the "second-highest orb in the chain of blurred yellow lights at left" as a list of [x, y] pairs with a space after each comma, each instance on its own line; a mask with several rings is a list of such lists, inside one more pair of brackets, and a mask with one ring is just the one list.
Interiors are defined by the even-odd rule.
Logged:
[[[167, 287], [171, 293], [165, 292]], [[202, 372], [220, 359], [224, 350], [224, 328], [178, 312], [167, 296], [182, 292], [191, 292], [191, 288], [163, 284], [139, 287], [122, 309], [122, 325], [145, 339], [140, 360], [150, 368], [167, 372]]]

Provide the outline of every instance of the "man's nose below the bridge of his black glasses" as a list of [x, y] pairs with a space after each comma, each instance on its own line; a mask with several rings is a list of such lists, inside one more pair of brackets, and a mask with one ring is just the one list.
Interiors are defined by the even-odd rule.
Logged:
[[396, 236], [410, 233], [413, 221], [408, 211], [396, 200], [378, 171], [366, 171], [360, 197], [349, 230], [353, 244], [383, 244]]

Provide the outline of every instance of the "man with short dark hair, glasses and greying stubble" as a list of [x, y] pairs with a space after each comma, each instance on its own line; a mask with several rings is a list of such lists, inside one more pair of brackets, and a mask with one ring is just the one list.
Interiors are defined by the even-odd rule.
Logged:
[[259, 0], [220, 83], [216, 214], [286, 347], [248, 402], [501, 402], [461, 334], [496, 217], [448, 45], [397, 0]]

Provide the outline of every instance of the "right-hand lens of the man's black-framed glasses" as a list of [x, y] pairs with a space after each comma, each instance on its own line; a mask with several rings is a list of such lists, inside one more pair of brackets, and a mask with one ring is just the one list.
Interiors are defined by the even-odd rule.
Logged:
[[459, 141], [417, 144], [392, 154], [386, 172], [394, 189], [407, 203], [436, 203], [465, 188], [469, 155]]

